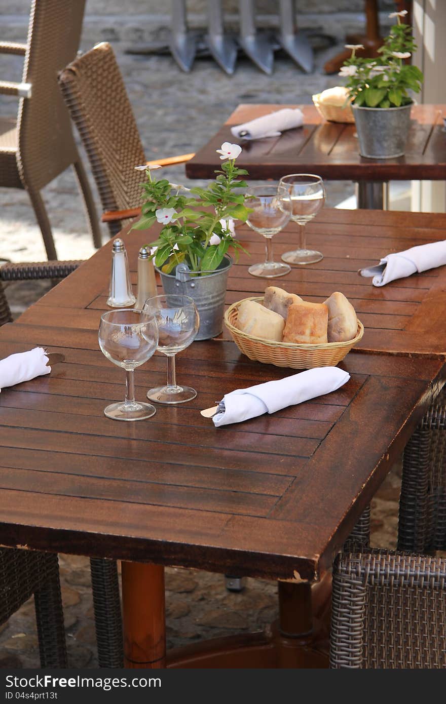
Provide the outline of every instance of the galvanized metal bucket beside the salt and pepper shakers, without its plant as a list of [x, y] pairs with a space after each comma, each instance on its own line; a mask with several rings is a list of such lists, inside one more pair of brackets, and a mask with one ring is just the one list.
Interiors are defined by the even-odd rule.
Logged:
[[205, 272], [204, 276], [193, 276], [187, 264], [179, 264], [175, 275], [163, 274], [156, 268], [165, 294], [185, 294], [194, 299], [200, 316], [196, 340], [208, 340], [223, 330], [226, 284], [232, 265], [233, 260], [227, 254], [218, 269]]

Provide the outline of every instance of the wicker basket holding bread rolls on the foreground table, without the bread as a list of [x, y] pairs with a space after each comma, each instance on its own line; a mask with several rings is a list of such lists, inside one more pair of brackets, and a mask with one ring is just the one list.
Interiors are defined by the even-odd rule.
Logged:
[[[244, 298], [245, 301], [263, 303], [264, 297]], [[364, 335], [364, 325], [358, 320], [357, 336], [347, 342], [328, 342], [322, 345], [299, 345], [294, 342], [273, 342], [253, 337], [235, 327], [238, 308], [242, 301], [233, 303], [225, 312], [225, 325], [240, 352], [249, 359], [292, 369], [313, 369], [337, 365]]]

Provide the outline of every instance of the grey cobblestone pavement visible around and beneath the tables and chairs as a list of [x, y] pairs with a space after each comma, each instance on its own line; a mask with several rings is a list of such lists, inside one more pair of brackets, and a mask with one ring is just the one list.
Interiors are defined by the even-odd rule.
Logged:
[[[89, 39], [92, 33], [90, 26]], [[97, 40], [101, 39], [103, 34], [98, 34]], [[227, 77], [206, 58], [197, 61], [192, 73], [185, 75], [169, 56], [124, 54], [119, 43], [115, 48], [147, 158], [197, 149], [240, 102], [310, 103], [312, 94], [337, 84], [337, 77], [323, 75], [321, 66], [339, 47], [318, 51], [316, 70], [311, 75], [303, 75], [290, 60], [278, 55], [272, 77], [242, 59], [237, 73]], [[16, 71], [11, 80], [18, 79], [16, 58], [11, 65]], [[11, 100], [2, 100], [0, 114], [13, 113], [15, 106]], [[85, 158], [84, 163], [87, 165]], [[181, 182], [184, 167], [172, 168], [169, 176]], [[353, 193], [349, 182], [328, 182], [327, 187], [329, 206]], [[44, 189], [44, 200], [59, 257], [90, 256], [94, 250], [73, 174], [66, 172], [49, 184]], [[42, 238], [27, 194], [0, 189], [0, 212], [0, 257], [13, 261], [44, 259]], [[106, 236], [104, 231], [104, 241]], [[11, 284], [7, 294], [14, 313], [25, 310], [48, 286], [46, 282]], [[398, 495], [396, 468], [373, 501], [373, 541], [378, 546], [395, 546]], [[60, 562], [70, 666], [97, 667], [88, 560], [61, 555]], [[271, 582], [248, 579], [244, 591], [230, 593], [221, 575], [169, 568], [166, 590], [169, 647], [258, 629], [277, 615], [276, 587]], [[0, 667], [38, 667], [33, 610], [31, 600], [8, 624], [0, 626]]]

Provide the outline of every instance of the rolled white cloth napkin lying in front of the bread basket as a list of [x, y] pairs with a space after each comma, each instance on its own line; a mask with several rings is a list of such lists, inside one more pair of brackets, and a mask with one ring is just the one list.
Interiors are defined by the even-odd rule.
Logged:
[[309, 398], [330, 394], [330, 391], [336, 391], [348, 382], [349, 378], [350, 375], [338, 367], [317, 367], [276, 382], [236, 389], [223, 397], [218, 413], [213, 416], [213, 425], [220, 427], [240, 423], [264, 413], [275, 413]]

